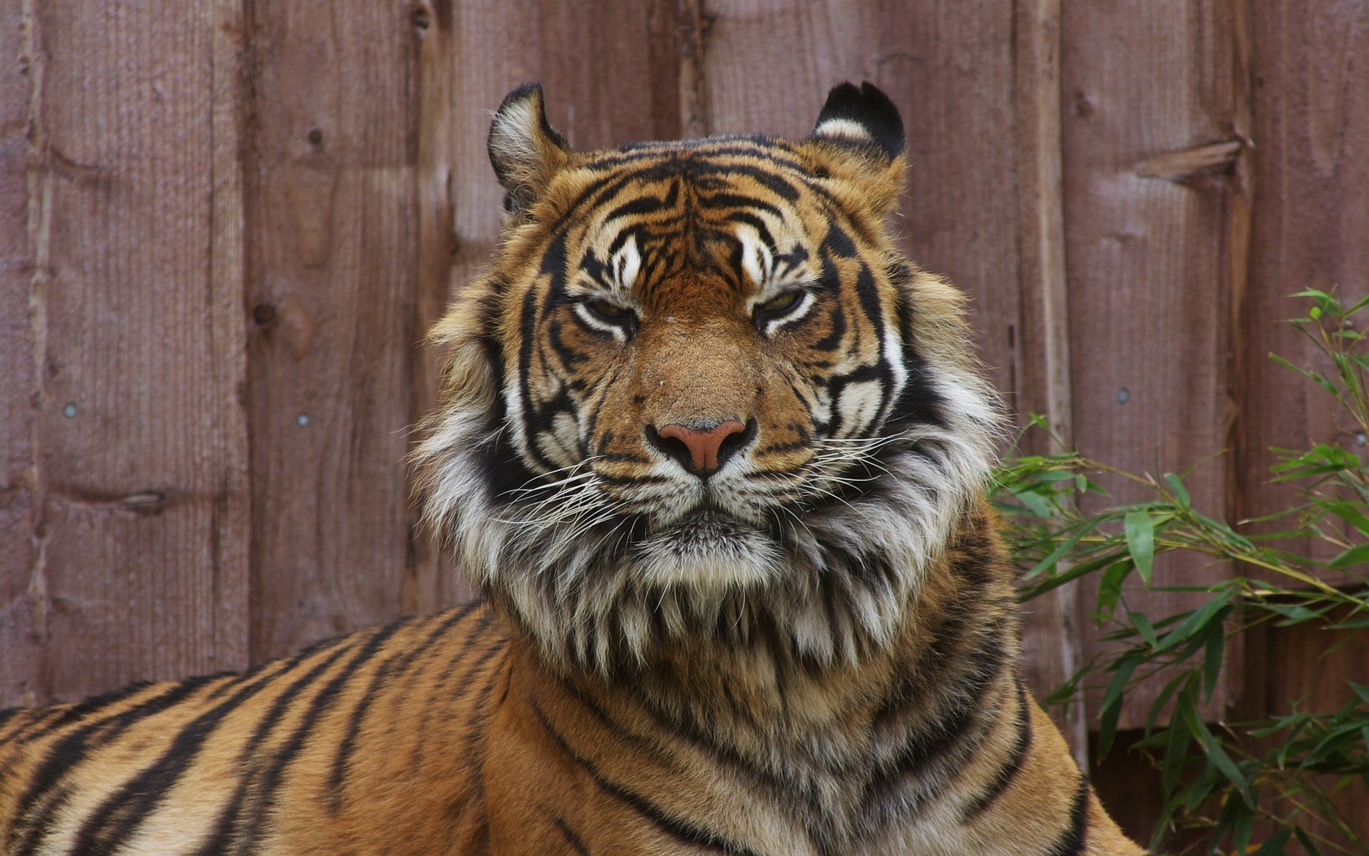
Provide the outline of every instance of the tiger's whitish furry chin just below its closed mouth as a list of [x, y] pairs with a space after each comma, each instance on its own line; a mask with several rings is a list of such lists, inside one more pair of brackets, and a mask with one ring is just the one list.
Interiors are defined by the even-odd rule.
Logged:
[[782, 553], [768, 533], [724, 511], [701, 508], [634, 546], [643, 581], [720, 594], [773, 581]]

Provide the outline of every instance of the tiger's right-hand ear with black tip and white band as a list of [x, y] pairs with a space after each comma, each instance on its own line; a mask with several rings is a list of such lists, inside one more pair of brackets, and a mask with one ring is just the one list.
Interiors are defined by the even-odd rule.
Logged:
[[806, 144], [821, 167], [867, 194], [872, 214], [893, 210], [904, 189], [908, 144], [898, 108], [878, 86], [834, 86]]

